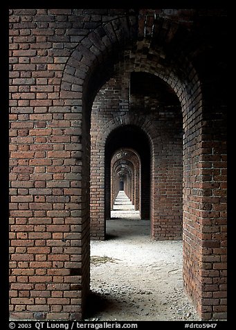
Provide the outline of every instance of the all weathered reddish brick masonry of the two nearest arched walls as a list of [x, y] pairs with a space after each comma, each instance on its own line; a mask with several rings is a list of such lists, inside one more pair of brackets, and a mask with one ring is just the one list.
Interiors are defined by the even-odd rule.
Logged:
[[130, 126], [152, 235], [180, 238], [183, 218], [185, 290], [226, 318], [226, 12], [10, 9], [9, 24], [11, 317], [84, 315], [89, 216], [102, 237], [102, 166]]

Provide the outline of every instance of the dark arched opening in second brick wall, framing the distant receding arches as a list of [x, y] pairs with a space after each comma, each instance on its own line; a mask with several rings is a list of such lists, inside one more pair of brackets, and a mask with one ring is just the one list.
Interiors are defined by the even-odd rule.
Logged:
[[[115, 171], [112, 171], [111, 166], [114, 166]], [[122, 125], [109, 134], [105, 145], [106, 224], [111, 225], [111, 218], [140, 218], [147, 220], [149, 227], [150, 168], [149, 140], [143, 130], [135, 125]], [[123, 196], [127, 196], [127, 202], [123, 205], [121, 202], [120, 207], [116, 206], [116, 212], [111, 217], [115, 196], [118, 194], [116, 175], [122, 177], [125, 190]], [[120, 212], [117, 212], [117, 208], [120, 208]], [[132, 224], [135, 225], [134, 222]]]

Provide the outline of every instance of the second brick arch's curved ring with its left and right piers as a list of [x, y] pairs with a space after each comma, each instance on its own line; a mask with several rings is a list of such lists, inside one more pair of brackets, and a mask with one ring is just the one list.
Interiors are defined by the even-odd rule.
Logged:
[[[163, 141], [163, 138], [161, 137], [161, 134], [156, 131], [156, 127], [154, 127], [152, 121], [149, 121], [147, 118], [142, 118], [141, 116], [132, 116], [130, 114], [123, 114], [122, 120], [120, 120], [121, 116], [117, 116], [116, 118], [112, 119], [111, 121], [108, 121], [105, 125], [102, 126], [101, 130], [98, 132], [98, 139], [96, 139], [95, 147], [92, 149], [91, 153], [91, 164], [92, 164], [92, 173], [91, 173], [91, 188], [92, 191], [96, 189], [96, 186], [98, 186], [99, 182], [109, 182], [109, 180], [106, 180], [105, 171], [103, 168], [106, 168], [105, 163], [105, 146], [107, 139], [109, 138], [109, 135], [114, 132], [114, 130], [117, 130], [118, 128], [125, 128], [128, 125], [134, 125], [135, 127], [139, 128], [148, 137], [149, 140], [149, 146], [150, 146], [150, 160], [151, 160], [151, 167], [149, 168], [150, 175], [151, 175], [151, 187], [150, 192], [148, 189], [141, 189], [141, 191], [145, 190], [147, 194], [149, 194], [150, 198], [150, 205], [151, 205], [151, 214], [150, 214], [150, 220], [151, 220], [151, 228], [152, 228], [152, 237], [154, 239], [180, 239], [181, 238], [181, 226], [182, 226], [182, 219], [181, 219], [181, 194], [182, 194], [182, 176], [179, 172], [179, 169], [181, 168], [181, 146], [179, 145], [179, 155], [176, 154], [173, 157], [173, 163], [176, 163], [176, 165], [170, 166], [165, 165], [165, 158], [167, 157], [165, 154], [163, 154], [163, 149], [165, 148], [165, 143]], [[122, 124], [121, 124], [122, 123]], [[176, 145], [177, 146], [177, 145]], [[175, 147], [176, 149], [176, 147]], [[173, 150], [170, 150], [170, 152], [173, 152]], [[168, 156], [170, 157], [170, 155]], [[97, 162], [97, 164], [96, 164]], [[101, 167], [102, 164], [102, 167]], [[93, 180], [93, 168], [95, 169], [94, 177], [96, 177], [95, 180]], [[98, 168], [100, 168], [98, 170]], [[99, 171], [99, 177], [98, 177], [98, 171]], [[165, 171], [170, 171], [170, 174], [167, 175]], [[175, 174], [174, 174], [175, 173]], [[177, 175], [177, 181], [174, 178], [175, 175]], [[163, 177], [169, 177], [168, 185], [165, 185], [165, 180]], [[154, 180], [154, 177], [156, 179]], [[173, 177], [174, 180], [171, 183], [170, 177]], [[178, 179], [179, 177], [179, 179]], [[93, 189], [94, 184], [94, 189]], [[105, 183], [106, 186], [106, 183]], [[173, 186], [173, 187], [172, 187]], [[177, 188], [179, 187], [179, 188]], [[170, 202], [165, 195], [165, 189], [170, 189]], [[175, 189], [178, 193], [172, 193], [171, 191]], [[179, 189], [179, 190], [178, 190]], [[107, 189], [108, 191], [108, 189]], [[143, 192], [142, 192], [143, 193]], [[176, 196], [175, 196], [176, 194]], [[100, 198], [100, 211], [98, 209], [98, 206], [96, 206], [96, 212], [94, 212], [94, 223], [93, 223], [93, 216], [91, 214], [91, 228], [95, 225], [96, 228], [96, 219], [100, 219], [100, 224], [102, 221], [102, 218], [104, 216], [104, 209], [107, 209], [106, 204], [103, 204], [102, 200], [108, 200], [110, 196], [110, 193], [106, 193], [106, 198], [104, 198], [104, 191], [100, 190], [99, 196], [91, 196], [91, 208], [93, 209], [93, 203], [97, 205], [98, 198]], [[141, 198], [141, 200], [145, 200], [145, 197]], [[166, 200], [166, 203], [164, 202]], [[110, 202], [107, 202], [107, 205], [109, 205]], [[145, 219], [145, 214], [142, 213], [142, 210], [145, 208], [145, 204], [143, 207], [141, 206], [141, 218]], [[167, 224], [165, 220], [166, 218], [170, 217], [170, 215], [165, 216], [165, 211], [167, 214], [172, 214], [172, 221], [170, 222], [171, 225]], [[161, 214], [161, 216], [160, 216]], [[109, 216], [109, 211], [107, 211], [107, 216]], [[147, 217], [149, 218], [149, 216]], [[163, 218], [164, 223], [161, 223], [161, 218]], [[105, 221], [105, 220], [104, 220]], [[156, 231], [154, 228], [158, 227], [158, 231]], [[102, 228], [103, 227], [102, 225]], [[165, 232], [165, 228], [168, 228], [170, 233]], [[105, 229], [103, 229], [105, 230]], [[97, 232], [97, 229], [96, 229]], [[102, 229], [100, 229], [100, 234], [102, 233]], [[105, 235], [103, 235], [105, 237]]]

